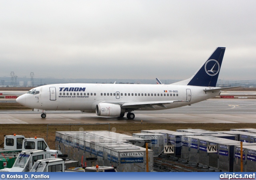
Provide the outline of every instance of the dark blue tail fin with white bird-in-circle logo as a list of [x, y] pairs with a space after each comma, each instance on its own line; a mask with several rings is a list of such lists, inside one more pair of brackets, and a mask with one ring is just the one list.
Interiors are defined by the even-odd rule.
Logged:
[[218, 47], [192, 76], [188, 85], [216, 87], [226, 48]]

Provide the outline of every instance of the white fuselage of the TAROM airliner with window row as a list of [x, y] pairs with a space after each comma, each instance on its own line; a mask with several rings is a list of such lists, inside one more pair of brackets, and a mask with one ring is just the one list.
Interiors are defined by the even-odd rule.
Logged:
[[204, 92], [210, 87], [167, 84], [51, 84], [30, 90], [38, 94], [24, 94], [17, 102], [40, 110], [81, 110], [95, 112], [101, 102], [122, 104], [127, 102], [153, 102], [183, 100], [154, 105], [154, 108], [135, 110], [161, 110], [177, 108], [218, 96], [221, 91]]

